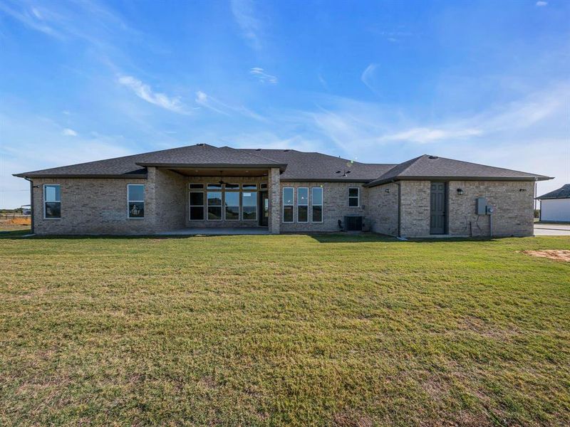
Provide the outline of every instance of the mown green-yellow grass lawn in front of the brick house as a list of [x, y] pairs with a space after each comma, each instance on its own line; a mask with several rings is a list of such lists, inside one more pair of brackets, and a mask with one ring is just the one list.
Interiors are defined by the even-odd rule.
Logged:
[[0, 425], [570, 423], [570, 238], [0, 234]]

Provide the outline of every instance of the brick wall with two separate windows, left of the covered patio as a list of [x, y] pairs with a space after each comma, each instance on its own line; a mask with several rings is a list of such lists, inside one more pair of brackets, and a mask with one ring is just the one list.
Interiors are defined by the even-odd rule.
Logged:
[[[61, 218], [43, 218], [43, 184], [61, 186]], [[127, 184], [145, 184], [145, 218], [127, 218]], [[154, 186], [147, 179], [36, 178], [33, 226], [36, 234], [152, 233]]]

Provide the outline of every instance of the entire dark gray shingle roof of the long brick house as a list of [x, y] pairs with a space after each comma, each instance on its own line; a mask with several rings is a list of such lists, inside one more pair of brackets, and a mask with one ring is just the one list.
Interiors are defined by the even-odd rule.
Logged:
[[16, 176], [145, 176], [147, 166], [279, 167], [283, 181], [361, 181], [368, 182], [369, 186], [399, 179], [549, 179], [543, 175], [427, 155], [400, 164], [368, 164], [294, 149], [234, 149], [208, 144], [24, 172]]

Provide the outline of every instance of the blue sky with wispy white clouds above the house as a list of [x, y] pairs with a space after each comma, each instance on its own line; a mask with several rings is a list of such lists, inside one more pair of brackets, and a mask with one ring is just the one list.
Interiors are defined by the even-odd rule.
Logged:
[[569, 1], [0, 0], [16, 172], [180, 147], [420, 154], [570, 182]]

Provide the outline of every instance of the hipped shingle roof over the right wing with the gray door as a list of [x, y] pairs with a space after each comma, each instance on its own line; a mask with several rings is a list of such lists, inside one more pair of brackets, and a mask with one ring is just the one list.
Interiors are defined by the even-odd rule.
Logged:
[[544, 181], [549, 176], [528, 174], [502, 167], [445, 159], [445, 157], [424, 154], [403, 162], [377, 179], [366, 184], [375, 186], [390, 181], [406, 179], [462, 179], [477, 181]]

